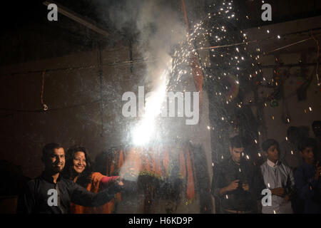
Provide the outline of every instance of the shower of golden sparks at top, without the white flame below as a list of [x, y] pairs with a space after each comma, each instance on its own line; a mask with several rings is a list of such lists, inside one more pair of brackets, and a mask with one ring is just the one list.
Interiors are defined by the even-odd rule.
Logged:
[[[175, 90], [179, 83], [186, 77], [193, 76], [190, 68], [190, 59], [202, 59], [198, 67], [203, 72], [205, 81], [215, 81], [218, 86], [224, 86], [225, 78], [235, 78], [239, 84], [239, 77], [243, 76], [248, 81], [262, 73], [260, 69], [259, 54], [250, 54], [248, 36], [236, 27], [240, 19], [233, 9], [233, 1], [214, 1], [208, 6], [208, 13], [203, 20], [191, 26], [192, 31], [186, 35], [185, 41], [180, 41], [173, 54], [173, 73], [170, 74], [168, 90]], [[230, 47], [230, 43], [244, 43], [243, 47]], [[220, 49], [213, 48], [220, 46]], [[212, 46], [212, 48], [208, 48]], [[201, 53], [208, 51], [205, 58], [200, 58]], [[256, 48], [260, 53], [260, 48]], [[212, 63], [212, 64], [211, 64]], [[215, 66], [213, 66], [215, 63]], [[228, 90], [228, 88], [226, 88]], [[216, 93], [215, 93], [216, 95]], [[219, 95], [222, 95], [219, 94]], [[229, 99], [230, 102], [232, 99]], [[239, 106], [240, 104], [238, 104]]]

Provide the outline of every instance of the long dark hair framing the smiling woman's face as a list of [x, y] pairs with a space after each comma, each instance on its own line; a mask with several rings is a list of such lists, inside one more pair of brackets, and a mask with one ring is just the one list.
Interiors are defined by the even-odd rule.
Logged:
[[86, 188], [87, 185], [91, 182], [91, 174], [93, 172], [93, 169], [91, 167], [91, 159], [85, 147], [73, 145], [72, 147], [68, 148], [66, 153], [66, 165], [63, 169], [63, 177], [73, 181], [73, 179], [78, 175], [78, 173], [73, 169], [73, 158], [75, 157], [76, 152], [79, 151], [85, 154], [86, 168], [78, 176], [76, 183]]

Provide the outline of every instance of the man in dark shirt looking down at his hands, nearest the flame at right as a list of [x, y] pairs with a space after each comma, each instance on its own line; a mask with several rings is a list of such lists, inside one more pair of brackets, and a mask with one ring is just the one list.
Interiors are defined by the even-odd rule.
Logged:
[[212, 194], [220, 201], [221, 213], [258, 212], [257, 201], [265, 189], [258, 167], [245, 155], [240, 136], [230, 138], [230, 157], [214, 165]]

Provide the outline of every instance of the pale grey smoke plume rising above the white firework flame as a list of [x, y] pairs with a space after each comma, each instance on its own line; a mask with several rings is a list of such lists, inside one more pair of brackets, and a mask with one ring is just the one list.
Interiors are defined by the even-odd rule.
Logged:
[[[172, 1], [173, 2], [173, 1]], [[185, 26], [170, 1], [128, 0], [108, 9], [109, 20], [123, 33], [137, 34], [138, 50], [146, 63], [146, 81], [157, 89], [171, 57], [171, 48], [185, 38]]]

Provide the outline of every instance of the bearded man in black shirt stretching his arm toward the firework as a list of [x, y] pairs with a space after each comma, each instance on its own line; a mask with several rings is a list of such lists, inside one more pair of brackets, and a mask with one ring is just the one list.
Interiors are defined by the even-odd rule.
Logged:
[[69, 212], [71, 202], [86, 207], [101, 206], [113, 199], [123, 185], [120, 182], [119, 185], [93, 193], [64, 179], [60, 173], [65, 166], [65, 152], [57, 143], [44, 146], [41, 160], [45, 170], [28, 182], [24, 194], [19, 197], [18, 213], [65, 214]]

